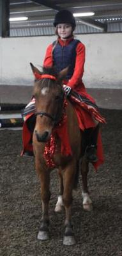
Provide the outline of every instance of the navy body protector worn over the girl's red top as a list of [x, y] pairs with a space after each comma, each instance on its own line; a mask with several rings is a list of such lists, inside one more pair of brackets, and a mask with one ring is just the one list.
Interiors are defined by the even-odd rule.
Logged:
[[[70, 79], [73, 75], [75, 68], [75, 59], [76, 59], [76, 48], [79, 44], [79, 40], [74, 39], [68, 45], [61, 46], [59, 42], [53, 42], [54, 50], [52, 52], [54, 66], [56, 67], [57, 72], [63, 70], [63, 68], [69, 67], [68, 74], [66, 79]], [[56, 46], [55, 46], [56, 45]]]

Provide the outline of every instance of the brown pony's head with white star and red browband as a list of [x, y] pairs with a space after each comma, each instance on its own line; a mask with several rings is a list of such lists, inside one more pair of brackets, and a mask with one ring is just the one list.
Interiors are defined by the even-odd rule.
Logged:
[[61, 120], [65, 98], [62, 81], [68, 68], [57, 74], [54, 67], [43, 67], [41, 72], [32, 63], [30, 64], [35, 77], [33, 95], [36, 106], [36, 125], [34, 133], [38, 142], [46, 142], [50, 138], [52, 128]]

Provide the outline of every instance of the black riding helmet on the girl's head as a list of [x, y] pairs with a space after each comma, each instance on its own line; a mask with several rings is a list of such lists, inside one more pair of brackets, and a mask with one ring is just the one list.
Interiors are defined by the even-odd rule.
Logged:
[[72, 13], [68, 10], [61, 10], [56, 13], [54, 19], [54, 27], [56, 27], [57, 24], [61, 23], [70, 23], [72, 24], [73, 29], [75, 29], [76, 26], [75, 18], [73, 17]]

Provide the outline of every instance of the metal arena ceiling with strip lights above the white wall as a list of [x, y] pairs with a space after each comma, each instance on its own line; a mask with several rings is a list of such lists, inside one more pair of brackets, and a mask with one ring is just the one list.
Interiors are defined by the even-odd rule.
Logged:
[[10, 28], [52, 28], [54, 15], [63, 9], [72, 13], [95, 12], [91, 17], [75, 18], [80, 33], [84, 33], [83, 28], [106, 33], [110, 25], [112, 31], [122, 31], [121, 0], [10, 0], [10, 17], [28, 17], [26, 21], [10, 22]]

